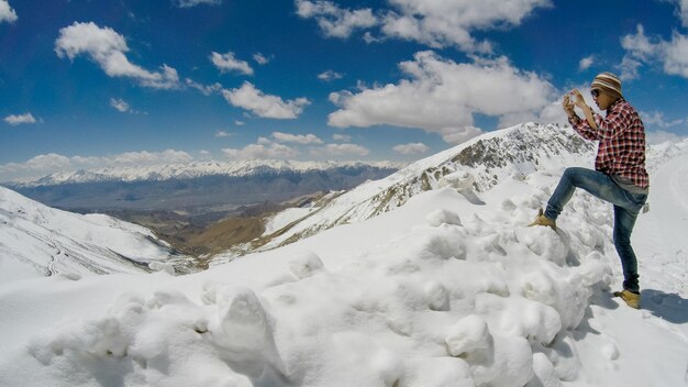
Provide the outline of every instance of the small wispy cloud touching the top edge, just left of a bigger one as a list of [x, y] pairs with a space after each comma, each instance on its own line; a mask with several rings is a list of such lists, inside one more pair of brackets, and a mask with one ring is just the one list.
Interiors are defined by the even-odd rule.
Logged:
[[297, 14], [304, 19], [315, 19], [326, 36], [348, 37], [357, 29], [377, 24], [370, 9], [345, 10], [331, 1], [296, 0]]

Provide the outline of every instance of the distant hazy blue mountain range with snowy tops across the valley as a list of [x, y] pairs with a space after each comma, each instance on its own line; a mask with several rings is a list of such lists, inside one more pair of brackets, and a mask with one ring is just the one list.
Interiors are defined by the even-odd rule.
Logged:
[[46, 206], [82, 213], [169, 211], [235, 213], [318, 191], [346, 190], [396, 172], [393, 163], [209, 162], [53, 174], [3, 184]]

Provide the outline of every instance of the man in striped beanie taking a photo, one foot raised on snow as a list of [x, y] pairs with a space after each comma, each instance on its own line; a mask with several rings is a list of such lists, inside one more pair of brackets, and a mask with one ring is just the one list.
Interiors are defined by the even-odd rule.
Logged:
[[[564, 97], [568, 122], [584, 139], [599, 141], [595, 170], [567, 168], [547, 208], [531, 225], [556, 229], [556, 219], [576, 188], [614, 206], [614, 246], [623, 266], [623, 290], [614, 292], [630, 307], [640, 308], [637, 262], [631, 247], [631, 232], [640, 210], [647, 200], [650, 179], [645, 170], [645, 129], [637, 112], [621, 93], [621, 80], [611, 74], [598, 75], [591, 84], [591, 93], [602, 118], [588, 107], [577, 89]], [[569, 97], [569, 95], [572, 97]], [[572, 100], [573, 98], [573, 100]], [[579, 108], [580, 119], [574, 108]]]

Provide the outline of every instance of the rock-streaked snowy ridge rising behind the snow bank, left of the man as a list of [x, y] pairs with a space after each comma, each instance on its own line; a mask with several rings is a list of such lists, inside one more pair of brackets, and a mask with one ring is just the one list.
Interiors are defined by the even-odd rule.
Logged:
[[[487, 133], [306, 211], [303, 218], [274, 236], [264, 235], [270, 240], [264, 248], [376, 217], [403, 206], [414, 195], [441, 186], [454, 186], [473, 195], [473, 190], [487, 191], [506, 179], [525, 178], [543, 168], [589, 164], [595, 148], [595, 144], [582, 141], [570, 129], [557, 125], [526, 123]], [[275, 228], [268, 224], [266, 229]]]

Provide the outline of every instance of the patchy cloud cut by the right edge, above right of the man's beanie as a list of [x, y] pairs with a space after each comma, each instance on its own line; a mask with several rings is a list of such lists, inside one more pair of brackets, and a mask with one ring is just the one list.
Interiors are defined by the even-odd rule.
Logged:
[[642, 25], [635, 34], [621, 40], [626, 54], [621, 64], [622, 79], [637, 78], [639, 68], [644, 64], [659, 64], [664, 73], [688, 78], [688, 36], [674, 32], [670, 41], [650, 37]]

